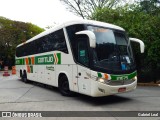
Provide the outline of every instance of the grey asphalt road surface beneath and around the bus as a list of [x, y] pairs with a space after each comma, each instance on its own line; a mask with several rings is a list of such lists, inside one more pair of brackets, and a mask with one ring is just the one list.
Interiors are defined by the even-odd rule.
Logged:
[[[80, 94], [65, 97], [57, 88], [38, 83], [25, 84], [15, 75], [2, 77], [0, 74], [0, 111], [160, 111], [160, 87], [138, 86], [136, 90], [129, 93], [100, 98]], [[79, 120], [82, 118], [56, 117], [55, 119]], [[83, 119], [88, 120], [91, 117]], [[92, 119], [128, 120], [129, 118], [113, 116]], [[131, 117], [130, 119], [160, 120], [160, 117]]]

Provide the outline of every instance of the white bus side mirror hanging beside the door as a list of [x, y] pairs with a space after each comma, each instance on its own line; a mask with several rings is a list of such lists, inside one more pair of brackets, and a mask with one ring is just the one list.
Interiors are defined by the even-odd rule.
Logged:
[[84, 30], [75, 33], [76, 35], [87, 35], [89, 37], [89, 44], [91, 48], [96, 47], [96, 36], [92, 31]]

